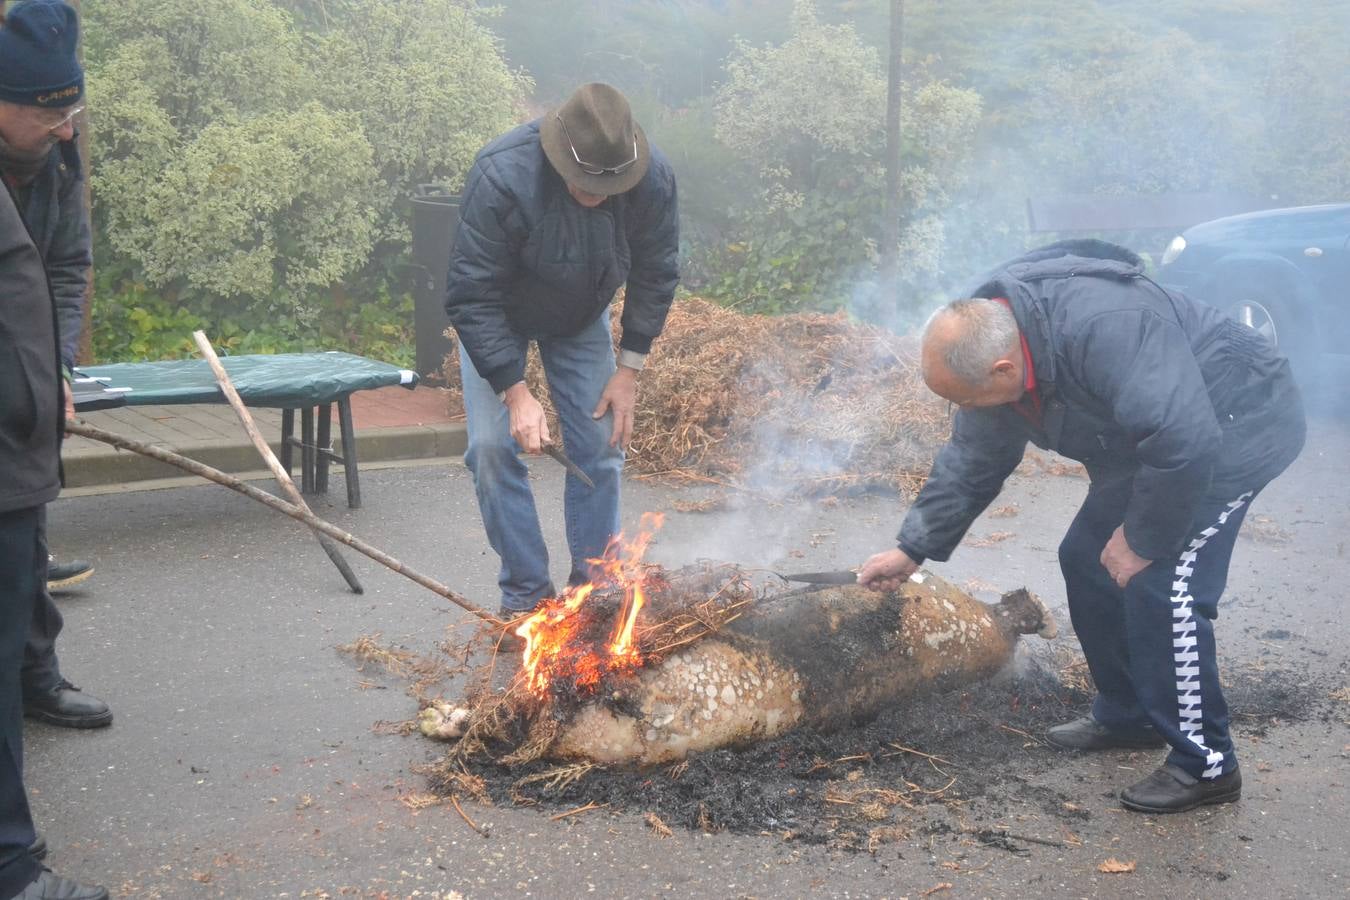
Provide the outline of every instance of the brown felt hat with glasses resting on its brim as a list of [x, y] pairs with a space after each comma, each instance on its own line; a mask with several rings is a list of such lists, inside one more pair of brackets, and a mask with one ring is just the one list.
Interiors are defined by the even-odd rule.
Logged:
[[589, 194], [633, 189], [651, 162], [647, 135], [633, 121], [628, 99], [601, 82], [582, 85], [545, 115], [539, 140], [563, 181]]

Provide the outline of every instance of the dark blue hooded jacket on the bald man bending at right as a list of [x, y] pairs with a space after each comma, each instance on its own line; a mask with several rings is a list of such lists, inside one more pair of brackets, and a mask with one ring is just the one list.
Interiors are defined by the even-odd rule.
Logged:
[[1197, 502], [1278, 475], [1303, 448], [1289, 363], [1214, 306], [1164, 290], [1138, 256], [1061, 242], [995, 270], [972, 297], [1004, 297], [1027, 340], [1044, 417], [960, 409], [905, 517], [899, 546], [945, 560], [1031, 441], [1094, 483], [1133, 478], [1125, 537], [1145, 559], [1179, 553]]

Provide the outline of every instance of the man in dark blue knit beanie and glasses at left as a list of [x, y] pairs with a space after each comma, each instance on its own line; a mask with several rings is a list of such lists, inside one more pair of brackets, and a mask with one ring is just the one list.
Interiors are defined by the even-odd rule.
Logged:
[[[69, 378], [93, 264], [74, 140], [74, 117], [84, 109], [78, 42], [76, 11], [61, 0], [15, 4], [0, 24], [0, 178], [14, 192], [51, 285], [61, 368], [68, 379], [62, 386], [66, 416], [74, 414]], [[46, 590], [49, 584], [50, 569], [35, 598], [24, 646], [24, 714], [62, 727], [107, 726], [112, 722], [108, 704], [61, 675], [55, 646], [62, 617]]]

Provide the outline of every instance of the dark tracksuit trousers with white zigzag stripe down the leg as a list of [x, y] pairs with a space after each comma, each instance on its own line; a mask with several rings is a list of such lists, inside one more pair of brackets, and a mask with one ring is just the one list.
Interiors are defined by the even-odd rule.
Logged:
[[1264, 486], [1207, 497], [1187, 548], [1154, 560], [1122, 590], [1100, 556], [1125, 521], [1131, 487], [1130, 478], [1094, 484], [1060, 544], [1069, 617], [1098, 688], [1092, 715], [1125, 731], [1152, 723], [1172, 745], [1168, 762], [1197, 779], [1216, 779], [1238, 761], [1219, 685], [1214, 619], [1238, 529]]

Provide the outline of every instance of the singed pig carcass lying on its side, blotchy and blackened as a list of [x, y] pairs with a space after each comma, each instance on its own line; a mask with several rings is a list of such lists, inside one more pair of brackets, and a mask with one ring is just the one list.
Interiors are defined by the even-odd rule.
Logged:
[[991, 606], [933, 575], [894, 594], [784, 594], [582, 707], [548, 756], [656, 765], [801, 726], [838, 729], [988, 677], [1033, 633], [1053, 637], [1054, 621], [1031, 594]]

